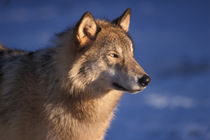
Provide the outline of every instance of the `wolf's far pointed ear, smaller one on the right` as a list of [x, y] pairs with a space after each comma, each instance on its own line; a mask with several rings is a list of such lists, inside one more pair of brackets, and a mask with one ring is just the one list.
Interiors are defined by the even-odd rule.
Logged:
[[131, 18], [131, 9], [128, 8], [125, 12], [117, 19], [113, 20], [112, 23], [120, 26], [124, 31], [128, 32]]

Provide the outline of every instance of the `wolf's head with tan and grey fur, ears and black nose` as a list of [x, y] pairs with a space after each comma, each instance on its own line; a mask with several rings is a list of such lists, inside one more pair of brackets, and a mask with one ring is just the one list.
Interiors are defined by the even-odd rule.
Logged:
[[69, 71], [71, 86], [90, 93], [120, 90], [137, 93], [150, 82], [133, 56], [128, 35], [131, 10], [112, 22], [95, 20], [86, 12], [73, 29], [75, 60]]

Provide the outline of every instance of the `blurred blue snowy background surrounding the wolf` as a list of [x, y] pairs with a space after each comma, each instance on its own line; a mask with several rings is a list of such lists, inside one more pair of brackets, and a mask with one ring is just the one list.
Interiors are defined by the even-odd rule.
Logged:
[[132, 9], [135, 58], [152, 77], [125, 94], [107, 140], [210, 140], [209, 0], [0, 0], [0, 43], [37, 50], [85, 11], [114, 19]]

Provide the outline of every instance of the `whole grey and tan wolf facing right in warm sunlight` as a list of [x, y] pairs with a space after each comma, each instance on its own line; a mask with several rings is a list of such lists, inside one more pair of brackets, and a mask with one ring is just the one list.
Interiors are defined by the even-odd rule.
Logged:
[[123, 92], [150, 82], [133, 56], [130, 13], [86, 12], [50, 48], [1, 47], [0, 139], [103, 140]]

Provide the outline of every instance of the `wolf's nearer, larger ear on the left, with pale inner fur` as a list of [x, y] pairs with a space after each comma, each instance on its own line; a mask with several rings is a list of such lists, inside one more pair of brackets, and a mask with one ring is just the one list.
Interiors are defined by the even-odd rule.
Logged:
[[97, 24], [90, 12], [84, 13], [82, 18], [76, 24], [75, 29], [76, 39], [79, 42], [80, 47], [84, 47], [94, 41], [98, 33]]

